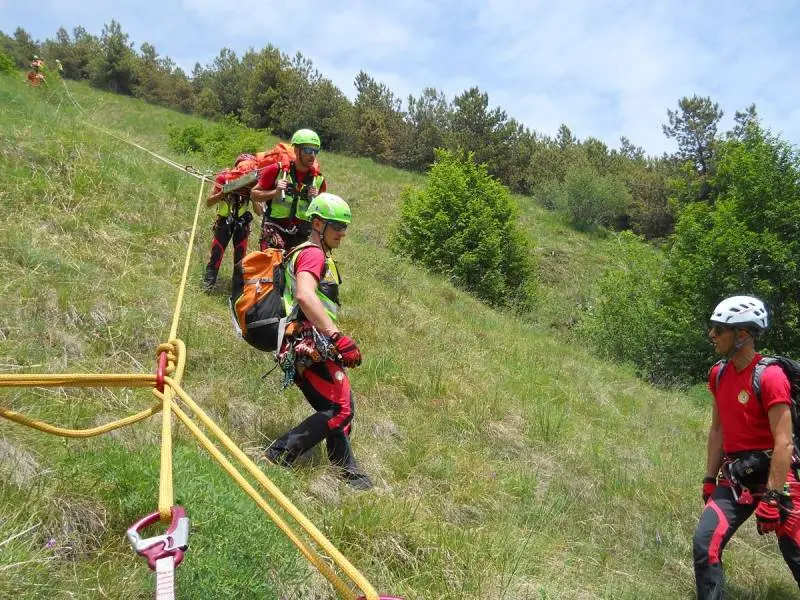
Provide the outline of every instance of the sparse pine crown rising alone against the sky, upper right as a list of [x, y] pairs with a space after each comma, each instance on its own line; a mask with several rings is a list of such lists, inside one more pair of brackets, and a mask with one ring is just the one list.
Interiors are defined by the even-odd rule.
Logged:
[[669, 125], [662, 125], [664, 135], [678, 143], [678, 158], [690, 161], [701, 177], [710, 174], [722, 114], [719, 104], [697, 95], [684, 96], [678, 101], [678, 110], [667, 110]]

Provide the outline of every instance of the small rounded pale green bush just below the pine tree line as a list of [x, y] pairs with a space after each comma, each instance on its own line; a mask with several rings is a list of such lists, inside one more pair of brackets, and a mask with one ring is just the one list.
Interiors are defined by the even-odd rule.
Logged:
[[564, 178], [562, 207], [579, 231], [612, 227], [631, 204], [628, 188], [611, 176], [599, 176], [591, 167], [577, 167]]

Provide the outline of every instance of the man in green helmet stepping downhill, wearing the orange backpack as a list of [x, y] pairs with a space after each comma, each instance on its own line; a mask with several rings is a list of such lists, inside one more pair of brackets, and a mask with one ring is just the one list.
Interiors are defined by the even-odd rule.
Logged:
[[355, 413], [346, 367], [361, 364], [358, 345], [337, 325], [341, 279], [331, 251], [351, 222], [350, 207], [339, 196], [319, 194], [307, 211], [311, 236], [287, 258], [284, 304], [290, 326], [278, 349], [285, 382], [295, 383], [316, 411], [266, 449], [272, 463], [290, 466], [298, 456], [326, 441], [328, 458], [352, 487], [367, 490], [350, 448]]

